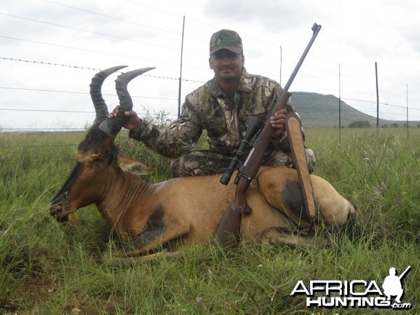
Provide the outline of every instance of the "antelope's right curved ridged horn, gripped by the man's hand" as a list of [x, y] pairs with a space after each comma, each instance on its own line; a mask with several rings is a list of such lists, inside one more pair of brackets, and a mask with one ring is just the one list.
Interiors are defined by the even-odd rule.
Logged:
[[140, 76], [142, 73], [149, 71], [151, 68], [137, 69], [133, 71], [128, 71], [126, 73], [121, 73], [120, 76], [116, 79], [116, 90], [118, 94], [118, 99], [120, 99], [120, 109], [118, 110], [118, 115], [115, 118], [108, 118], [99, 125], [99, 129], [105, 132], [106, 134], [117, 135], [120, 132], [123, 124], [127, 117], [125, 116], [125, 111], [131, 111], [133, 108], [132, 98], [130, 93], [127, 90], [127, 85], [130, 80]]

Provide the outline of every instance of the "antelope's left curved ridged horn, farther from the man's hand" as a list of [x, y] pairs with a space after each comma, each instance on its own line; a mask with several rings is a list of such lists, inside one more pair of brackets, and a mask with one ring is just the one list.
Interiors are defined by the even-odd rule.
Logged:
[[92, 98], [94, 111], [96, 112], [96, 118], [94, 119], [93, 125], [101, 123], [108, 118], [108, 106], [106, 106], [105, 100], [102, 98], [102, 83], [112, 73], [125, 68], [126, 66], [113, 66], [111, 68], [99, 71], [92, 78], [90, 83], [90, 97]]

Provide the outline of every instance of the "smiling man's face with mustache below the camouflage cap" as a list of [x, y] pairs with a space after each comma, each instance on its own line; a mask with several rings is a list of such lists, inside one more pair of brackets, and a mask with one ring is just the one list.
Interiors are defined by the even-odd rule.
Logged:
[[232, 82], [241, 77], [244, 56], [228, 49], [221, 49], [210, 56], [209, 65], [218, 81]]

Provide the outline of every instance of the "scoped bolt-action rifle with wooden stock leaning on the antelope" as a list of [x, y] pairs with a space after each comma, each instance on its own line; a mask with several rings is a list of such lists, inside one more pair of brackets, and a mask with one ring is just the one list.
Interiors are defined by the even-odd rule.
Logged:
[[[240, 165], [241, 158], [244, 155], [244, 150], [249, 146], [251, 147], [251, 151], [248, 153], [246, 160], [243, 165], [239, 167], [239, 172], [235, 179], [235, 184], [237, 184], [237, 189], [235, 193], [235, 200], [230, 202], [228, 209], [226, 209], [225, 214], [221, 222], [218, 225], [216, 230], [216, 242], [224, 247], [234, 246], [237, 244], [239, 239], [239, 230], [241, 225], [241, 218], [242, 215], [251, 213], [251, 208], [246, 203], [245, 195], [246, 190], [251, 184], [251, 181], [255, 178], [260, 169], [260, 165], [262, 162], [262, 158], [264, 158], [265, 151], [269, 146], [269, 142], [272, 139], [272, 134], [274, 132], [274, 128], [269, 123], [269, 118], [274, 116], [274, 113], [286, 107], [286, 103], [290, 98], [291, 93], [288, 92], [290, 85], [295, 78], [297, 71], [299, 71], [300, 66], [302, 65], [304, 58], [306, 57], [309, 49], [311, 48], [312, 43], [314, 43], [318, 32], [321, 30], [321, 25], [317, 25], [314, 23], [312, 26], [312, 37], [309, 41], [307, 48], [304, 50], [302, 57], [300, 57], [299, 62], [295, 67], [295, 70], [291, 74], [288, 82], [283, 88], [279, 99], [277, 100], [274, 108], [272, 109], [270, 115], [267, 117], [265, 124], [262, 126], [260, 130], [260, 126], [262, 123], [258, 122], [257, 120], [251, 119], [248, 129], [246, 130], [246, 134], [244, 140], [241, 141], [241, 145], [235, 151], [235, 156], [232, 158], [232, 162], [230, 163], [229, 167], [226, 169], [225, 173], [221, 178], [221, 183], [224, 185], [228, 185], [232, 173], [235, 171], [238, 165]], [[258, 119], [258, 118], [257, 118]], [[251, 144], [251, 139], [255, 136], [256, 133], [260, 130], [260, 133], [256, 137], [256, 139]]]

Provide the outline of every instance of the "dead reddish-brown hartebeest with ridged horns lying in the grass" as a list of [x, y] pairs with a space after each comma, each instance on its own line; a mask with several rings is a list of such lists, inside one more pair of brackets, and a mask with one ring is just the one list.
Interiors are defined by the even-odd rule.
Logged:
[[[158, 248], [174, 251], [180, 245], [212, 241], [223, 212], [235, 197], [235, 184], [224, 186], [219, 182], [220, 175], [162, 183], [147, 183], [139, 177], [154, 169], [123, 155], [113, 144], [124, 117], [108, 118], [101, 93], [105, 78], [121, 68], [106, 69], [92, 78], [90, 92], [97, 118], [77, 148], [76, 166], [52, 200], [50, 214], [76, 225], [76, 210], [96, 204], [111, 230], [122, 241], [130, 240], [132, 249], [125, 251], [127, 255], [146, 255]], [[148, 70], [118, 76], [120, 113], [132, 109], [127, 83]], [[311, 181], [318, 206], [313, 229], [344, 225], [354, 212], [353, 206], [324, 179], [311, 175]], [[242, 219], [241, 238], [312, 244], [314, 231], [302, 232], [299, 226], [304, 202], [297, 172], [286, 167], [262, 167], [254, 182], [246, 195], [252, 212]]]

